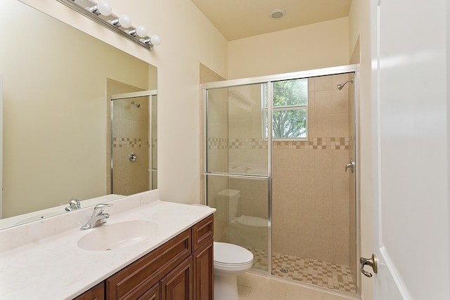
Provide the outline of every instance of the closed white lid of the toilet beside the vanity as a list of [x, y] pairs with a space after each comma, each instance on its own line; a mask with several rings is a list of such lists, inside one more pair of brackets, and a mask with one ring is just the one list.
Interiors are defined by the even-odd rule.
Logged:
[[236, 244], [214, 242], [214, 261], [227, 264], [242, 264], [253, 260], [252, 252]]

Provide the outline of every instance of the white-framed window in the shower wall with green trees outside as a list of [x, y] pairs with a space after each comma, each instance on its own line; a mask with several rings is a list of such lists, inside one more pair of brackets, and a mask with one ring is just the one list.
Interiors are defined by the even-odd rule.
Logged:
[[[308, 79], [274, 81], [272, 91], [274, 140], [306, 139]], [[266, 112], [264, 115], [266, 116]]]

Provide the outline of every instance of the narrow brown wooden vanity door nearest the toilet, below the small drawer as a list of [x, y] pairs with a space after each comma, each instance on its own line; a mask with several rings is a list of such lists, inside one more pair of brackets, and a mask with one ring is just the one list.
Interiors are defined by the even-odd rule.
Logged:
[[214, 295], [214, 252], [212, 238], [193, 254], [194, 299], [212, 300]]

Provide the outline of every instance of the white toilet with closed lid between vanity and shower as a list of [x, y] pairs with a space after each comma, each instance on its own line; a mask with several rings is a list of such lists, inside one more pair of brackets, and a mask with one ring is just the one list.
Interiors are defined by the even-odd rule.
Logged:
[[238, 300], [236, 275], [250, 270], [253, 254], [243, 247], [214, 242], [214, 300]]

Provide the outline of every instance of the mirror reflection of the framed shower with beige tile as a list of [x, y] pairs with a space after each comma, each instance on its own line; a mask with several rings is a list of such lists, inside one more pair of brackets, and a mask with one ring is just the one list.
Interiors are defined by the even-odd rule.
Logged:
[[110, 96], [110, 193], [158, 188], [157, 112], [156, 90]]

